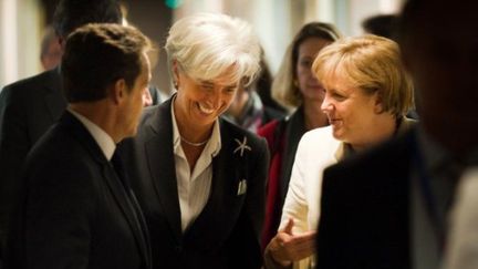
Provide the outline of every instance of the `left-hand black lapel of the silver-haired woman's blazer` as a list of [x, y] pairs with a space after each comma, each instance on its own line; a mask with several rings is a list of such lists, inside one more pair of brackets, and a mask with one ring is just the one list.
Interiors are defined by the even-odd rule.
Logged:
[[164, 102], [145, 122], [144, 151], [153, 186], [177, 241], [181, 240], [180, 208], [173, 149], [172, 100]]

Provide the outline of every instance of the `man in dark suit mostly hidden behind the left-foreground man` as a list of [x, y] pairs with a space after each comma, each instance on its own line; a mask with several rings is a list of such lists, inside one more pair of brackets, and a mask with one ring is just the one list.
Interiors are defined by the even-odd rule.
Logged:
[[[66, 37], [77, 27], [90, 22], [121, 23], [122, 13], [115, 0], [62, 0], [53, 20], [64, 46]], [[0, 250], [23, 161], [65, 107], [60, 68], [7, 85], [0, 93]]]

